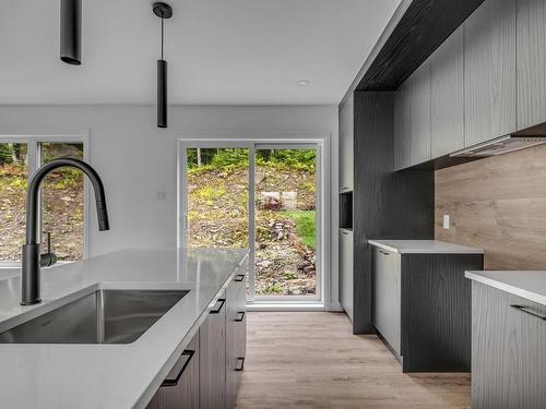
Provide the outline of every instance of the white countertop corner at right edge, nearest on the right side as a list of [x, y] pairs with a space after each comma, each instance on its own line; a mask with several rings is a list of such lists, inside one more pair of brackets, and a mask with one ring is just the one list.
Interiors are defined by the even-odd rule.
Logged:
[[546, 305], [546, 272], [466, 272], [466, 278]]

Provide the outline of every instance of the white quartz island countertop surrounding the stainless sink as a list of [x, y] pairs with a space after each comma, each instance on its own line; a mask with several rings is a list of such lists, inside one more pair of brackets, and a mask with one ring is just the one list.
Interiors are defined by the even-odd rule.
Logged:
[[245, 262], [247, 250], [126, 250], [41, 272], [38, 305], [20, 276], [0, 280], [0, 332], [99, 288], [187, 289], [127, 345], [0, 345], [2, 408], [141, 408], [155, 394]]

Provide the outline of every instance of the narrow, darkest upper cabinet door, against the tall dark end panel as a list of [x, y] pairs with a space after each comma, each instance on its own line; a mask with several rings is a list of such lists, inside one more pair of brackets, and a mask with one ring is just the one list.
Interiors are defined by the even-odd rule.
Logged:
[[412, 80], [406, 80], [394, 94], [394, 170], [407, 168], [410, 161], [410, 125], [412, 118]]

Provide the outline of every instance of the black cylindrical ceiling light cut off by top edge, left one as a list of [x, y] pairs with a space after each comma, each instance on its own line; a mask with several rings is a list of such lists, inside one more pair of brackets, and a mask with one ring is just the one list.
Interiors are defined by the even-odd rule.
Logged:
[[61, 0], [61, 60], [82, 63], [82, 0]]

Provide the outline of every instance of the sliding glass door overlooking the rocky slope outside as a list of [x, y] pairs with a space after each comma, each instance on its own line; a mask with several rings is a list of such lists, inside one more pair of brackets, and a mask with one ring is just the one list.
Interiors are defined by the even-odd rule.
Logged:
[[321, 299], [320, 147], [183, 142], [180, 245], [248, 248], [251, 302]]

